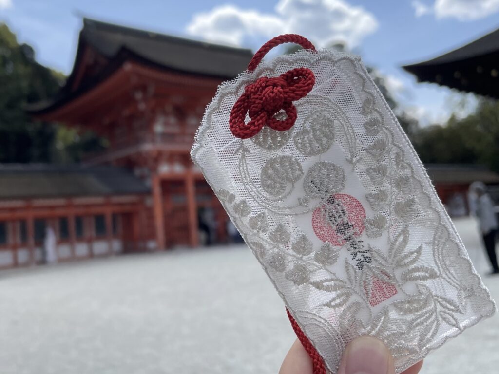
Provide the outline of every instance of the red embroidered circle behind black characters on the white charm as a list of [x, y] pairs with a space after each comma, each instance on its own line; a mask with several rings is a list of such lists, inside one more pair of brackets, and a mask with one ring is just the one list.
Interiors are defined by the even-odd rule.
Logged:
[[[364, 231], [364, 219], [366, 218], [366, 211], [360, 201], [346, 193], [335, 193], [332, 197], [345, 207], [348, 222], [353, 225], [354, 235], [360, 236]], [[332, 245], [343, 245], [345, 240], [326, 221], [323, 213], [324, 207], [325, 205], [318, 207], [312, 213], [313, 232], [322, 241], [328, 241]]]

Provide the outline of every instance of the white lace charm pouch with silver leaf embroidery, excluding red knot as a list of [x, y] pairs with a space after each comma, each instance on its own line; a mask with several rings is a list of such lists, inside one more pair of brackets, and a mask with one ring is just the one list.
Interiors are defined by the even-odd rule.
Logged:
[[[299, 67], [315, 85], [293, 102], [294, 126], [234, 137], [229, 115], [245, 86]], [[495, 312], [358, 57], [302, 50], [222, 84], [191, 154], [330, 372], [368, 334], [400, 373]]]

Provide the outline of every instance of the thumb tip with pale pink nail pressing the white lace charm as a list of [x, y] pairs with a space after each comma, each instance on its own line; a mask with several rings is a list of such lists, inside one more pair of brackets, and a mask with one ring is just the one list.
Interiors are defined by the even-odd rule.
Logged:
[[365, 336], [351, 342], [338, 369], [338, 374], [390, 374], [390, 351], [378, 339]]

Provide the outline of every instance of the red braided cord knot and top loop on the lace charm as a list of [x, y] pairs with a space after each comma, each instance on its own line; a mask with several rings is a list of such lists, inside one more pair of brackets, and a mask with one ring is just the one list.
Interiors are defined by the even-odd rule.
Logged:
[[[248, 65], [253, 71], [270, 49], [282, 43], [296, 43], [305, 49], [315, 47], [303, 36], [285, 34], [267, 41], [254, 54]], [[310, 69], [301, 67], [289, 70], [279, 77], [261, 77], [245, 87], [245, 92], [236, 101], [229, 117], [229, 126], [235, 137], [248, 139], [255, 136], [263, 126], [277, 131], [289, 130], [296, 121], [296, 107], [293, 101], [305, 97], [315, 84]], [[246, 115], [250, 122], [246, 123]]]

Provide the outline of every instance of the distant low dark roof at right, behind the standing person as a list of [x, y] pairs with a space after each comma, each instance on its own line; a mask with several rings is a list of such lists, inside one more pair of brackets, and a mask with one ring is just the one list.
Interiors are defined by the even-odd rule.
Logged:
[[499, 175], [481, 165], [426, 164], [425, 168], [434, 184], [466, 185], [475, 181], [499, 184]]

